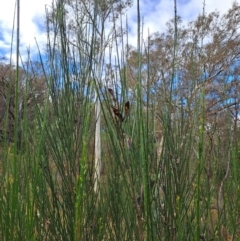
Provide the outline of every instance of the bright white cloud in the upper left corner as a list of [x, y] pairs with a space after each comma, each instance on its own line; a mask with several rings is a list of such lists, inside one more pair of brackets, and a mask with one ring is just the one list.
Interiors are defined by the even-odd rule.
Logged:
[[[31, 53], [37, 53], [35, 38], [40, 46], [46, 43], [46, 34], [39, 29], [38, 25], [44, 23], [45, 6], [51, 4], [51, 0], [22, 0], [20, 1], [20, 46], [23, 59], [27, 59], [27, 48], [31, 49]], [[15, 1], [0, 2], [0, 56], [10, 57], [10, 49], [12, 43], [12, 30], [14, 28], [13, 37], [13, 59], [15, 59], [16, 47], [16, 16], [14, 19]]]

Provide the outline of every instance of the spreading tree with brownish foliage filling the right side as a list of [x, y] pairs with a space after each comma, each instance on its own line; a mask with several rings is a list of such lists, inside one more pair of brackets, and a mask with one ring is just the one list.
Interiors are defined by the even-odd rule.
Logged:
[[[177, 23], [175, 19], [167, 23], [164, 33], [149, 36], [140, 65], [144, 96], [141, 101], [155, 113], [159, 172], [163, 173], [160, 180], [167, 200], [165, 207], [176, 206], [171, 197], [191, 197], [190, 183], [197, 182], [194, 175], [196, 177], [196, 173], [200, 173], [198, 177], [203, 177], [204, 185], [199, 193], [218, 199], [219, 210], [222, 210], [223, 187], [234, 169], [231, 153], [234, 150], [237, 156], [239, 149], [240, 5], [234, 2], [223, 15], [217, 11], [200, 14], [186, 26], [180, 17], [176, 20]], [[124, 71], [129, 89], [135, 93], [139, 52], [131, 46], [128, 46], [127, 52]], [[170, 123], [166, 112], [172, 112]], [[172, 132], [169, 133], [168, 126], [171, 124]], [[194, 160], [200, 158], [201, 166], [197, 169]], [[168, 165], [169, 172], [166, 171]], [[236, 163], [234, 165], [237, 166]], [[171, 179], [172, 176], [174, 179]], [[237, 183], [238, 178], [235, 176], [232, 182]], [[167, 190], [169, 186], [172, 188]], [[237, 195], [234, 197], [238, 198]], [[190, 199], [182, 202], [189, 205]], [[171, 213], [172, 209], [167, 212]], [[177, 213], [176, 210], [174, 212]], [[169, 215], [172, 218], [170, 222], [174, 220], [174, 215]]]

